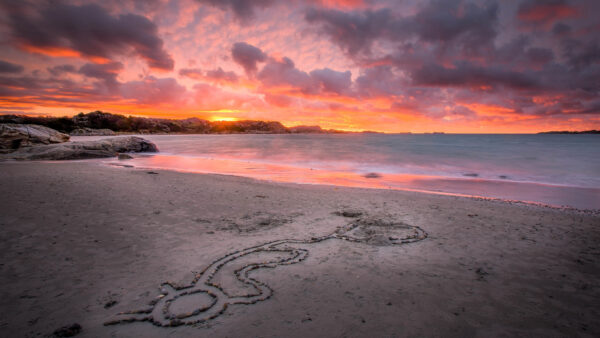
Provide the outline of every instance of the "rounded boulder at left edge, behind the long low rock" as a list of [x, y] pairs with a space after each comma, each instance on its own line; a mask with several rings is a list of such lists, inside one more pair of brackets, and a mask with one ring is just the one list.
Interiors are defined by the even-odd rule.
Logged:
[[22, 147], [62, 143], [69, 135], [37, 124], [0, 124], [0, 152], [8, 153]]

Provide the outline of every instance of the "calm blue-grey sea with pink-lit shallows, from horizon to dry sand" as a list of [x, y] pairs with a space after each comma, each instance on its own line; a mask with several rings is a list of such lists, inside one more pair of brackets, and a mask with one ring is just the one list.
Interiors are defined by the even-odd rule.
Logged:
[[600, 208], [600, 135], [143, 137], [160, 153], [136, 166]]

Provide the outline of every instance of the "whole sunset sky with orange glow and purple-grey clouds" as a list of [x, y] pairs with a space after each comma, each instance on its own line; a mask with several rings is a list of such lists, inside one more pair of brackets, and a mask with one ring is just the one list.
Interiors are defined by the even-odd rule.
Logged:
[[600, 1], [0, 0], [0, 114], [600, 129]]

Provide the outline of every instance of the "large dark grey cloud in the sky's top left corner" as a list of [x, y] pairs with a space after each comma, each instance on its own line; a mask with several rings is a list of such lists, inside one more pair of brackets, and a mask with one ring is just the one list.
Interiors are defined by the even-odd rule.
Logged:
[[5, 6], [15, 43], [25, 49], [79, 52], [84, 57], [110, 58], [133, 51], [151, 68], [173, 69], [156, 25], [144, 16], [113, 16], [98, 5]]

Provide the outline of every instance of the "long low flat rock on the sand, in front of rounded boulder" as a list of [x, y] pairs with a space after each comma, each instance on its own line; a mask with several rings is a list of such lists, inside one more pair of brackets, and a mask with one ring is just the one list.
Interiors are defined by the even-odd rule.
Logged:
[[124, 152], [157, 152], [156, 145], [138, 136], [114, 137], [96, 141], [66, 142], [20, 148], [0, 159], [77, 160], [114, 157]]

